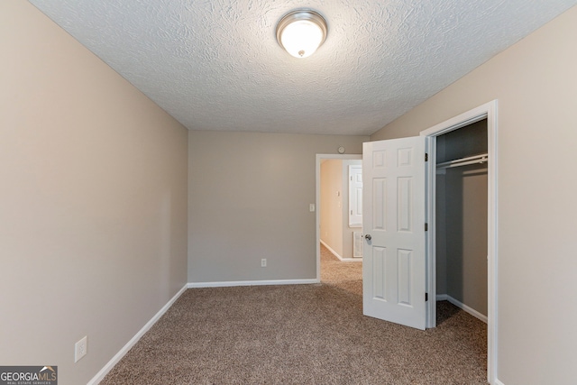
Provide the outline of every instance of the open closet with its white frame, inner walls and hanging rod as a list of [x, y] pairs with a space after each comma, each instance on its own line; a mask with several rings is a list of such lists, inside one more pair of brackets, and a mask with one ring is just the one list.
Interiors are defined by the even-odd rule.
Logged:
[[437, 298], [486, 322], [489, 383], [499, 341], [497, 109], [492, 100], [420, 133], [429, 160], [426, 288], [434, 299], [426, 302], [426, 327], [436, 326]]

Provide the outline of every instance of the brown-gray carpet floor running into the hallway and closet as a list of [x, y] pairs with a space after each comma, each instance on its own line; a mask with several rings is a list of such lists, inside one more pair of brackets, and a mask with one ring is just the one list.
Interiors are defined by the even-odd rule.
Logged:
[[362, 263], [322, 248], [321, 284], [188, 289], [112, 384], [486, 384], [487, 327], [448, 302], [420, 331], [362, 316]]

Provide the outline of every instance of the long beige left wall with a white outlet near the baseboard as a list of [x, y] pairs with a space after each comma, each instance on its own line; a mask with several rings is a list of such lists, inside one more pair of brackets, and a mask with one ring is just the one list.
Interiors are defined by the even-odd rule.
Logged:
[[0, 363], [87, 383], [187, 282], [188, 132], [28, 2], [0, 47]]

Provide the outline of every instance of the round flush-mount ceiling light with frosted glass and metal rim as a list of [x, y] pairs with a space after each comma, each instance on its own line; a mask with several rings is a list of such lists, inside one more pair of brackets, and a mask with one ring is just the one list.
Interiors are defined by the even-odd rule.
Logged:
[[325, 19], [315, 11], [293, 11], [277, 24], [277, 41], [295, 58], [312, 55], [325, 39]]

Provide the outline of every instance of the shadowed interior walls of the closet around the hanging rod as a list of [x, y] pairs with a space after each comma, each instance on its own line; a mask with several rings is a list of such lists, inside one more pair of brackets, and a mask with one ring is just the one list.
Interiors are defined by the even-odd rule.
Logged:
[[[487, 153], [487, 120], [436, 139], [436, 162]], [[436, 172], [436, 293], [487, 316], [487, 164]]]

